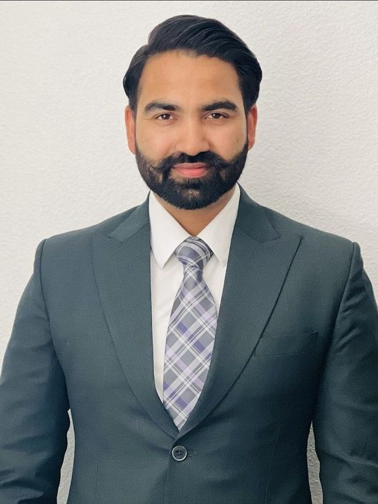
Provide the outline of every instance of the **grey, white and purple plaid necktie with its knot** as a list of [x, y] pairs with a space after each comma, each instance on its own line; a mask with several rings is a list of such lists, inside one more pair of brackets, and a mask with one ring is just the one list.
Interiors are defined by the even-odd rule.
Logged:
[[184, 278], [169, 319], [163, 404], [179, 430], [200, 396], [214, 347], [216, 304], [202, 271], [212, 254], [196, 236], [189, 236], [174, 251], [184, 266]]

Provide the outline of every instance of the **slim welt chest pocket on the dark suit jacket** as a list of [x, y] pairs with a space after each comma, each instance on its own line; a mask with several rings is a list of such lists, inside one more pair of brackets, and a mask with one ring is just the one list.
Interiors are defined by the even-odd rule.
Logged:
[[292, 353], [307, 353], [316, 349], [318, 331], [301, 334], [289, 334], [282, 336], [262, 337], [258, 342], [254, 355], [285, 356]]

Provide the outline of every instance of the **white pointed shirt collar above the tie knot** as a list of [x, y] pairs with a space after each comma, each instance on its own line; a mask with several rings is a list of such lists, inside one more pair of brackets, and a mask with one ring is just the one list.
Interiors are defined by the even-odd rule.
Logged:
[[[223, 267], [226, 266], [229, 246], [240, 200], [240, 188], [235, 184], [235, 190], [229, 202], [214, 217], [207, 226], [198, 233], [198, 238], [204, 240]], [[160, 269], [163, 269], [176, 247], [186, 240], [190, 234], [164, 209], [155, 194], [149, 193], [149, 220], [151, 225], [151, 249]]]

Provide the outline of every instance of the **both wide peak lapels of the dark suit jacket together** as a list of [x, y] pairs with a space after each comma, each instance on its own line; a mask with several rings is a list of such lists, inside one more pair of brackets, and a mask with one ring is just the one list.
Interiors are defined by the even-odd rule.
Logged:
[[153, 376], [148, 197], [111, 233], [94, 233], [95, 277], [120, 363], [142, 407], [164, 432], [184, 436], [227, 394], [274, 309], [300, 240], [299, 235], [279, 235], [263, 207], [240, 186], [209, 373], [178, 432]]

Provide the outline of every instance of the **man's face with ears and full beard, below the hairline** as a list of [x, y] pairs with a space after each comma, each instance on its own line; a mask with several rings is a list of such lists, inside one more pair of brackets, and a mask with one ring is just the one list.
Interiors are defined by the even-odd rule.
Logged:
[[234, 67], [164, 52], [147, 61], [139, 91], [137, 113], [127, 106], [125, 122], [144, 182], [180, 209], [216, 202], [239, 179], [256, 130], [256, 106], [245, 117]]

